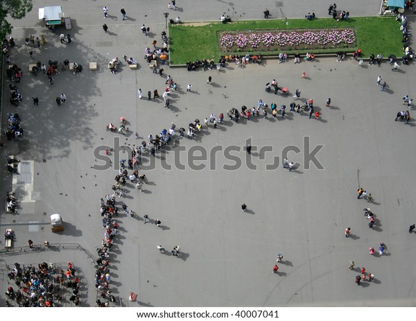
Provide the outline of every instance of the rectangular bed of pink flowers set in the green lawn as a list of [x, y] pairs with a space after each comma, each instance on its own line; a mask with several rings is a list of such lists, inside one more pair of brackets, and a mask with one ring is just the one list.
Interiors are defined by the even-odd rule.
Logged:
[[353, 28], [324, 28], [272, 31], [225, 31], [219, 34], [223, 53], [239, 51], [289, 51], [307, 49], [345, 49], [356, 46]]

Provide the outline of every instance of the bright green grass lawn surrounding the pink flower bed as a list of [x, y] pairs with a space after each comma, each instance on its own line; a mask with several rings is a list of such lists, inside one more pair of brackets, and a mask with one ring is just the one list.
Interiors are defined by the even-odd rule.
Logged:
[[[228, 24], [214, 22], [205, 26], [187, 26], [186, 24], [173, 24], [169, 26], [171, 64], [185, 64], [187, 61], [204, 58], [218, 60], [218, 31], [248, 31], [255, 29], [302, 29], [302, 28], [328, 28], [352, 27], [356, 31], [357, 48], [360, 48], [363, 57], [371, 53], [388, 57], [394, 54], [403, 55], [401, 43], [400, 24], [395, 17], [356, 17], [347, 21], [335, 19], [288, 19], [258, 21], [236, 21]], [[340, 49], [313, 50], [313, 53], [335, 53]], [[349, 50], [350, 51], [350, 50]], [[302, 50], [297, 50], [304, 53]], [[277, 52], [250, 51], [250, 54], [275, 55]], [[290, 54], [290, 52], [288, 52]], [[243, 52], [235, 54], [245, 54]]]

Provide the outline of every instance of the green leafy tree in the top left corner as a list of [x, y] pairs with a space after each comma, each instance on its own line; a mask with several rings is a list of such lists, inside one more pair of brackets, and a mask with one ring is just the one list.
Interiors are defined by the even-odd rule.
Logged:
[[13, 27], [6, 18], [21, 19], [32, 8], [31, 0], [0, 0], [0, 40], [12, 32]]

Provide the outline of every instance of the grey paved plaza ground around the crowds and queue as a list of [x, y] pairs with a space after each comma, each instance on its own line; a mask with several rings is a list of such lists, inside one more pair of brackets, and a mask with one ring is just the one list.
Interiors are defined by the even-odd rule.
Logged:
[[[293, 64], [292, 59], [283, 64], [265, 60], [261, 66], [249, 64], [245, 69], [227, 64], [220, 71], [206, 72], [166, 66], [165, 73], [180, 88], [171, 95], [171, 109], [166, 109], [162, 98], [147, 101], [137, 96], [139, 88], [144, 93], [158, 89], [162, 94], [166, 87], [165, 78], [152, 73], [143, 59], [146, 46], [154, 39], [160, 41], [166, 1], [141, 1], [141, 5], [121, 1], [128, 15], [125, 21], [119, 1], [58, 2], [34, 0], [33, 11], [15, 21], [12, 33], [17, 46], [10, 53], [12, 62], [24, 70], [24, 78], [17, 84], [24, 101], [15, 108], [3, 98], [3, 118], [17, 110], [26, 132], [20, 141], [6, 141], [1, 153], [2, 159], [12, 153], [33, 164], [28, 169], [21, 211], [14, 216], [0, 215], [2, 233], [5, 227], [15, 230], [15, 248], [26, 246], [29, 238], [35, 244], [47, 239], [76, 243], [96, 254], [103, 238], [99, 200], [111, 192], [118, 169], [94, 170], [101, 164], [94, 149], [114, 147], [117, 137], [126, 150], [121, 158], [126, 159], [130, 147], [147, 141], [149, 134], [168, 129], [172, 122], [177, 128], [187, 128], [211, 113], [218, 116], [232, 107], [240, 110], [242, 105], [257, 107], [259, 99], [269, 106], [275, 102], [278, 107], [288, 107], [291, 95], [264, 91], [265, 84], [275, 78], [292, 95], [300, 89], [302, 101], [313, 98], [315, 110], [322, 113], [319, 121], [309, 119], [306, 112], [286, 112], [285, 119], [273, 119], [269, 114], [268, 119], [254, 117], [239, 123], [225, 117], [218, 128], [202, 130], [195, 139], [178, 139], [155, 159], [145, 154], [139, 168], [155, 162], [154, 169], [143, 171], [149, 184], [140, 193], [129, 182], [125, 197], [118, 199], [119, 207], [125, 203], [139, 218], [122, 213], [117, 218], [120, 228], [111, 252], [110, 288], [122, 306], [415, 305], [416, 234], [409, 234], [408, 227], [416, 223], [416, 123], [394, 121], [397, 112], [407, 108], [401, 105], [401, 98], [406, 94], [412, 98], [415, 64], [392, 71], [386, 62], [381, 67], [359, 66], [349, 57], [336, 62], [334, 56], [300, 64]], [[184, 0], [177, 1], [177, 12], [169, 13], [182, 21], [215, 20], [234, 7], [234, 19], [261, 19], [261, 7], [266, 6], [277, 18], [303, 17], [309, 11], [327, 17], [329, 5], [321, 0], [264, 2], [259, 7], [245, 0]], [[313, 6], [307, 4], [311, 2]], [[349, 2], [349, 8], [338, 7], [349, 10], [351, 16], [379, 11], [379, 1]], [[71, 44], [60, 44], [61, 31], [49, 33], [37, 19], [37, 8], [56, 4], [62, 5], [73, 22]], [[110, 8], [107, 19], [102, 14], [105, 5]], [[103, 32], [104, 23], [110, 33]], [[148, 37], [141, 33], [141, 24], [150, 26]], [[41, 73], [37, 77], [28, 73], [29, 49], [24, 38], [30, 34], [45, 34], [48, 41], [41, 51], [35, 50], [34, 61], [67, 58], [83, 64], [83, 72], [63, 71], [55, 76], [54, 87]], [[136, 58], [139, 68], [130, 70], [122, 63], [120, 72], [111, 74], [108, 61], [124, 54]], [[97, 71], [88, 70], [92, 61], [98, 63]], [[211, 85], [208, 76], [212, 76]], [[376, 85], [377, 76], [387, 82], [386, 92]], [[5, 92], [9, 83], [5, 79]], [[193, 85], [192, 92], [186, 91], [187, 84]], [[67, 103], [58, 106], [55, 98], [62, 92]], [[33, 105], [32, 96], [40, 98], [38, 106]], [[325, 107], [329, 97], [330, 108]], [[410, 110], [410, 116], [413, 112]], [[121, 116], [127, 119], [130, 134], [106, 132], [105, 125], [118, 124]], [[135, 139], [135, 132], [140, 139]], [[309, 137], [309, 148], [304, 137]], [[243, 150], [247, 139], [253, 146], [251, 156]], [[319, 145], [323, 147], [316, 158], [324, 169], [312, 162], [308, 169], [305, 155]], [[167, 170], [162, 163], [173, 164], [175, 157], [187, 164], [187, 152], [179, 153], [180, 146], [187, 150], [202, 146], [214, 156], [201, 162], [207, 166], [200, 171], [188, 165], [185, 170], [177, 166]], [[241, 148], [232, 154], [242, 165], [232, 171], [223, 166], [234, 162], [212, 151], [227, 146]], [[265, 153], [264, 146], [272, 152]], [[300, 148], [300, 153], [288, 156], [300, 166], [291, 172], [281, 165], [266, 170], [266, 164], [281, 157], [285, 146]], [[257, 171], [245, 165], [249, 160], [257, 164]], [[12, 179], [6, 171], [2, 173], [1, 195], [5, 195], [12, 188]], [[372, 193], [374, 202], [357, 200], [359, 186]], [[248, 211], [241, 211], [243, 202]], [[365, 207], [376, 214], [373, 229], [367, 227]], [[64, 232], [51, 233], [49, 216], [54, 213], [64, 218]], [[159, 218], [162, 227], [144, 225], [143, 214]], [[347, 227], [352, 228], [350, 238], [344, 236]], [[370, 255], [368, 248], [378, 248], [380, 242], [387, 245], [387, 254]], [[182, 257], [160, 254], [159, 244], [167, 252], [180, 245]], [[284, 259], [279, 273], [272, 274], [279, 252]], [[354, 271], [347, 268], [349, 260], [355, 261]], [[0, 266], [41, 261], [73, 261], [83, 276], [82, 305], [94, 306], [94, 268], [82, 250], [52, 248], [2, 255]], [[358, 287], [354, 279], [361, 267], [372, 272], [375, 280]], [[5, 270], [0, 272], [0, 306], [4, 306], [8, 285]], [[137, 302], [128, 302], [130, 289], [139, 293]]]

